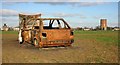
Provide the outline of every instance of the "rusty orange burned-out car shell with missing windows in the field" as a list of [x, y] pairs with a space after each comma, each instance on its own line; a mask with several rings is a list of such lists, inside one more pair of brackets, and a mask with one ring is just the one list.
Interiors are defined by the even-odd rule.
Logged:
[[19, 43], [31, 43], [35, 47], [71, 46], [73, 30], [63, 18], [40, 18], [41, 14], [19, 14]]

